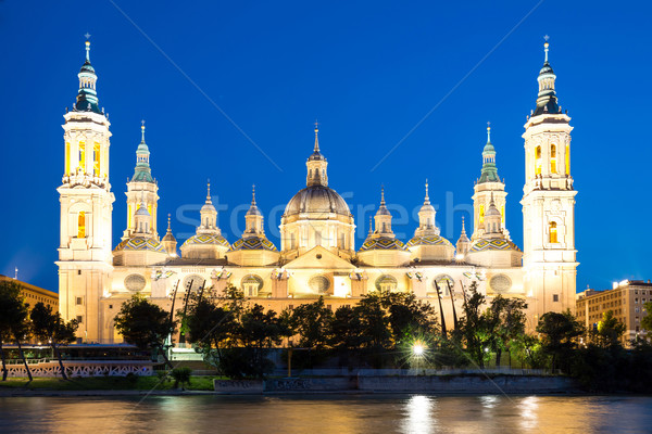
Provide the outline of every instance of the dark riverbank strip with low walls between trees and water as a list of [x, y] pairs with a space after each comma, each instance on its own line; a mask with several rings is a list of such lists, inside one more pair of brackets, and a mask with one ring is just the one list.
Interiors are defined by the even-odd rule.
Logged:
[[314, 395], [314, 394], [436, 394], [436, 395], [581, 395], [565, 376], [515, 375], [392, 375], [334, 378], [273, 378], [226, 380], [192, 376], [185, 388], [156, 376], [10, 379], [0, 382], [0, 396], [166, 396], [166, 395]]

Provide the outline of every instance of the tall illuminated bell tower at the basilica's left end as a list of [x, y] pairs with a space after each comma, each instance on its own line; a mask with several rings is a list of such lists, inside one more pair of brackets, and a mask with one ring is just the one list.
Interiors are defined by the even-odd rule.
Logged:
[[57, 189], [61, 202], [59, 307], [64, 319], [78, 319], [77, 335], [100, 340], [99, 301], [113, 270], [109, 183], [109, 119], [98, 106], [90, 42], [78, 74], [79, 91], [64, 115], [64, 170]]

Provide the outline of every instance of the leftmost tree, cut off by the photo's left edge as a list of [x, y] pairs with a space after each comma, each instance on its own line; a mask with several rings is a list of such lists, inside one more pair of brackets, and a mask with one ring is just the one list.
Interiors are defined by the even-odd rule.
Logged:
[[14, 341], [18, 346], [18, 353], [25, 365], [29, 381], [32, 370], [25, 359], [22, 341], [29, 334], [30, 323], [28, 319], [28, 306], [25, 304], [25, 298], [22, 293], [21, 285], [13, 281], [0, 282], [0, 356], [2, 358], [2, 381], [7, 380], [8, 370], [4, 362], [4, 350], [2, 343]]

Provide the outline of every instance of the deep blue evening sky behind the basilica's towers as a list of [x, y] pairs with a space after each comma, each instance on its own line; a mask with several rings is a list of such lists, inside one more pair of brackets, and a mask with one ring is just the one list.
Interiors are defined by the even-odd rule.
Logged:
[[575, 127], [577, 288], [652, 278], [652, 7], [614, 4], [0, 1], [0, 272], [13, 276], [17, 266], [22, 280], [57, 290], [61, 124], [77, 92], [86, 33], [112, 123], [115, 243], [140, 119], [160, 186], [160, 227], [172, 213], [179, 241], [192, 232], [210, 178], [234, 242], [255, 183], [278, 244], [280, 213], [304, 187], [318, 118], [330, 186], [356, 217], [358, 246], [380, 184], [394, 231], [412, 234], [425, 178], [442, 234], [455, 242], [487, 122], [506, 180], [507, 229], [523, 246], [521, 135], [550, 35], [557, 95]]

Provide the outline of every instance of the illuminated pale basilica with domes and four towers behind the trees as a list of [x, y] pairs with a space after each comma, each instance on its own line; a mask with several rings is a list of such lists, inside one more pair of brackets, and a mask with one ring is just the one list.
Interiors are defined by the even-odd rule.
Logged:
[[526, 177], [521, 201], [522, 248], [505, 227], [507, 192], [498, 175], [489, 128], [480, 176], [473, 188], [473, 231], [469, 229], [468, 237], [463, 226], [455, 243], [441, 237], [435, 225], [436, 210], [426, 183], [412, 239], [403, 241], [394, 235], [383, 193], [373, 228], [362, 245], [355, 246], [354, 216], [329, 187], [328, 161], [315, 127], [312, 154], [305, 162], [305, 188], [287, 203], [279, 221], [279, 246], [265, 235], [255, 191], [244, 216], [244, 231], [238, 240], [227, 240], [216, 224], [210, 184], [200, 226], [179, 246], [170, 217], [160, 237], [159, 186], [152, 176], [145, 126], [136, 148], [134, 176], [127, 182], [126, 227], [114, 246], [110, 123], [98, 105], [98, 77], [87, 41], [77, 99], [73, 110], [66, 111], [63, 125], [57, 261], [62, 316], [79, 320], [80, 340], [117, 343], [122, 337], [115, 331], [114, 317], [133, 294], [141, 293], [171, 309], [173, 294], [178, 308], [188, 291], [212, 288], [220, 293], [235, 285], [247, 297], [276, 311], [319, 296], [336, 309], [373, 291], [411, 292], [430, 303], [441, 301], [444, 317], [452, 321], [454, 309], [462, 310], [463, 291], [473, 282], [488, 299], [499, 294], [524, 298], [530, 330], [547, 311], [574, 309], [578, 263], [577, 192], [570, 176], [573, 127], [557, 102], [548, 42], [544, 48], [536, 107], [523, 133]]

